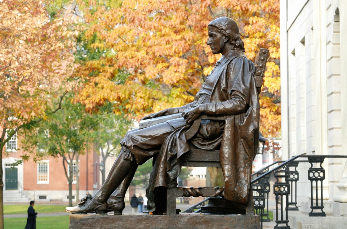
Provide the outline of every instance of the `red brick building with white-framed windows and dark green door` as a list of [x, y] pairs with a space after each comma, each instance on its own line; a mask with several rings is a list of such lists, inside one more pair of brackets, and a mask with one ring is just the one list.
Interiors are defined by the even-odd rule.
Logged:
[[[17, 136], [12, 137], [6, 145], [6, 152], [2, 155], [2, 169], [4, 181], [4, 203], [35, 201], [68, 201], [69, 187], [65, 176], [62, 158], [47, 157], [40, 163], [29, 159], [18, 166], [12, 166], [23, 151], [20, 150]], [[88, 147], [92, 148], [92, 147]], [[101, 183], [99, 170], [99, 155], [89, 150], [79, 156], [79, 198], [88, 191], [91, 194]], [[76, 163], [74, 163], [74, 171]], [[68, 170], [68, 166], [67, 166]], [[19, 193], [20, 195], [14, 195]], [[18, 196], [27, 198], [18, 198]], [[76, 177], [73, 182], [73, 198], [76, 196]]]

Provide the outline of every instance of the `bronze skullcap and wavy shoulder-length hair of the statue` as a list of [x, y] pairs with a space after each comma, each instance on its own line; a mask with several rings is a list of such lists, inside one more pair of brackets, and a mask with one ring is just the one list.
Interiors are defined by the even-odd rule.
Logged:
[[216, 28], [221, 35], [228, 37], [227, 42], [230, 43], [231, 49], [240, 49], [245, 52], [244, 43], [240, 36], [240, 28], [233, 19], [228, 17], [214, 19], [209, 23], [209, 31], [212, 27]]

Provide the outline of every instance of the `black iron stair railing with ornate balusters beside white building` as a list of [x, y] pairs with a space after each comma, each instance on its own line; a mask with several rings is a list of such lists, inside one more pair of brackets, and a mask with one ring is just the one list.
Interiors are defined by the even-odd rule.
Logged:
[[[299, 160], [301, 158], [307, 158], [308, 160]], [[299, 163], [305, 162], [311, 164], [311, 167], [308, 169], [308, 179], [311, 181], [311, 212], [309, 213], [309, 216], [325, 217], [325, 212], [323, 211], [323, 180], [325, 179], [325, 170], [322, 166], [325, 158], [347, 158], [347, 156], [298, 155], [271, 170], [268, 168], [273, 164], [253, 174], [253, 177], [257, 176], [251, 181], [254, 208], [256, 209], [256, 213], [261, 217], [261, 226], [263, 221], [268, 220], [268, 217], [263, 219], [263, 213], [265, 207], [268, 212], [268, 205], [265, 206], [265, 201], [268, 202], [270, 189], [267, 189], [267, 187], [270, 187], [269, 177], [271, 173], [273, 173], [276, 179], [275, 184], [273, 185], [273, 194], [275, 195], [276, 200], [276, 226], [274, 228], [290, 229], [288, 225], [288, 211], [298, 211], [296, 183], [299, 180], [299, 172], [296, 169]], [[319, 164], [319, 166], [314, 167], [315, 163]], [[265, 170], [268, 171], [263, 172]], [[315, 184], [315, 187], [313, 184]], [[313, 193], [315, 193], [316, 197], [315, 202], [313, 200]], [[279, 204], [279, 201], [281, 201], [281, 204]], [[279, 224], [281, 224], [281, 226]]]

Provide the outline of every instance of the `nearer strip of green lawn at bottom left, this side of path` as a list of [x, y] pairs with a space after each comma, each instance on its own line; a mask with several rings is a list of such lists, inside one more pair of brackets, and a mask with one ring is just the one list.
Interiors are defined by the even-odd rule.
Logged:
[[[6, 229], [23, 229], [26, 224], [26, 217], [4, 218]], [[37, 229], [66, 229], [69, 228], [69, 216], [46, 216], [36, 218]]]

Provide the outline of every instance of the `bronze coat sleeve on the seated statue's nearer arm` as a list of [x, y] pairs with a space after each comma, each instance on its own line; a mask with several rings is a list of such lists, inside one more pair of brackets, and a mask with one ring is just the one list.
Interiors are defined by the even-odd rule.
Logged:
[[229, 99], [218, 103], [206, 103], [206, 114], [233, 115], [245, 113], [249, 107], [250, 85], [254, 64], [245, 57], [237, 57], [227, 66]]

